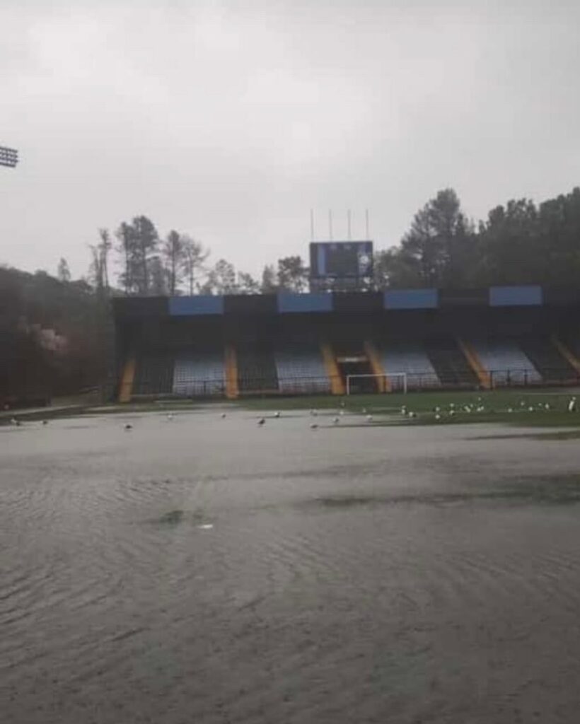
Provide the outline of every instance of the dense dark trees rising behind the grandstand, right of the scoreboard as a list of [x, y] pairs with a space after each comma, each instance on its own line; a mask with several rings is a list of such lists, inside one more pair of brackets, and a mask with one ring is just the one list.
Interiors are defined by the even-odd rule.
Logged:
[[580, 274], [580, 188], [540, 204], [509, 201], [477, 224], [445, 189], [413, 218], [400, 245], [379, 251], [375, 285], [487, 287], [576, 285]]

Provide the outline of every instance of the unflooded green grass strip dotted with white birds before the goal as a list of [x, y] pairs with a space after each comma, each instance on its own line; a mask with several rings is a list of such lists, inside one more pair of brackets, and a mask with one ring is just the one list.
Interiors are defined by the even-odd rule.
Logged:
[[[365, 414], [371, 414], [374, 417], [372, 423], [374, 425], [487, 422], [529, 427], [580, 426], [580, 413], [568, 413], [570, 397], [570, 392], [537, 389], [532, 391], [410, 392], [408, 395], [392, 393], [352, 395], [350, 397], [246, 398], [238, 400], [235, 404], [256, 412], [316, 408], [324, 414], [324, 412], [332, 413], [344, 409], [346, 413], [350, 414], [342, 420], [343, 426], [366, 423]], [[545, 409], [546, 404], [550, 405], [548, 410]], [[408, 411], [416, 413], [416, 418], [403, 416], [400, 413], [403, 405]], [[450, 415], [452, 409], [450, 405], [453, 405], [453, 416]], [[474, 409], [468, 412], [464, 409], [466, 405]], [[477, 412], [476, 408], [481, 406], [484, 411]], [[533, 411], [529, 411], [530, 407], [533, 408]], [[435, 408], [440, 408], [440, 412], [436, 413]], [[440, 415], [440, 420], [436, 419], [436, 414]]]

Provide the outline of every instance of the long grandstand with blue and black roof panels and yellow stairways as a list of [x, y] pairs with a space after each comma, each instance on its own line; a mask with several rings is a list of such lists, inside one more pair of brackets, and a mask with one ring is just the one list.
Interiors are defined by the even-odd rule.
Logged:
[[117, 298], [117, 396], [578, 384], [579, 310], [541, 287]]

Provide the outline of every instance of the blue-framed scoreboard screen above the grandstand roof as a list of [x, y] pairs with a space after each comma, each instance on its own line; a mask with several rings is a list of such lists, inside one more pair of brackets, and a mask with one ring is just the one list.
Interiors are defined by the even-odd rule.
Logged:
[[310, 245], [310, 274], [314, 279], [370, 277], [372, 269], [371, 241], [327, 241]]

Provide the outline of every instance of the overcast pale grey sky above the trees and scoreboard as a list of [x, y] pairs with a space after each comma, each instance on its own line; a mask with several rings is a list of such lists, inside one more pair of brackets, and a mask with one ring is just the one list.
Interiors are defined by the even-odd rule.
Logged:
[[0, 262], [85, 274], [146, 214], [242, 270], [580, 182], [580, 3], [1, 0]]

